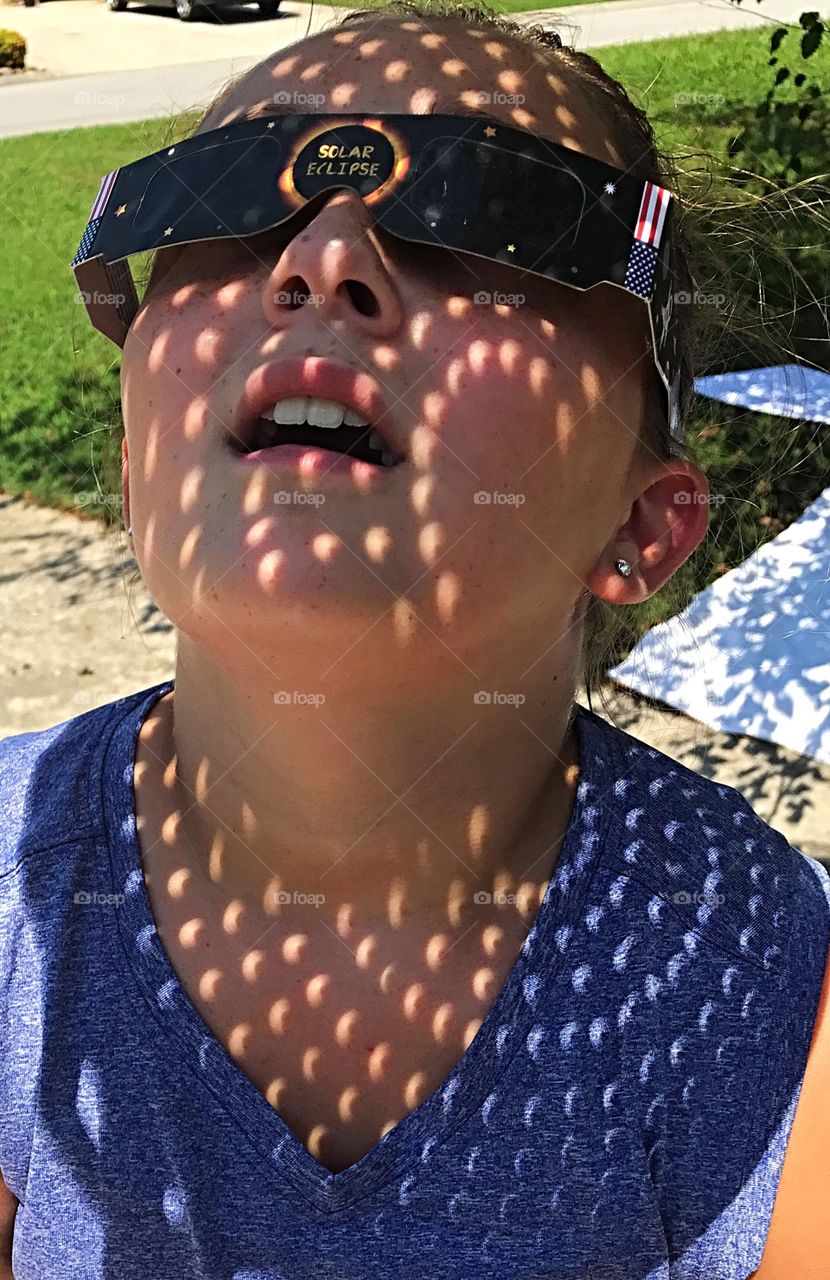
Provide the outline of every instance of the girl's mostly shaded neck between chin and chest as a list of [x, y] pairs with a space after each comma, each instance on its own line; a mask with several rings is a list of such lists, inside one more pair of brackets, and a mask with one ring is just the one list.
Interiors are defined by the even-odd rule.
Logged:
[[242, 666], [179, 636], [149, 740], [161, 838], [225, 902], [274, 914], [275, 892], [323, 895], [332, 922], [352, 901], [366, 916], [466, 914], [475, 893], [524, 888], [538, 905], [578, 781], [573, 672], [520, 678], [502, 662], [414, 694], [403, 671], [315, 705], [274, 700], [300, 672]]

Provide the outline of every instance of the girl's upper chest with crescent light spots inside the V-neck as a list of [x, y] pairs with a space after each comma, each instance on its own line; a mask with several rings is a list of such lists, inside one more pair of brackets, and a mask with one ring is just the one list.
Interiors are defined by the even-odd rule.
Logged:
[[[229, 936], [155, 891], [159, 938], [197, 1012], [309, 1153], [356, 1164], [450, 1075], [526, 934], [480, 924], [453, 945], [424, 929], [254, 922]], [[359, 931], [360, 933], [360, 931]]]

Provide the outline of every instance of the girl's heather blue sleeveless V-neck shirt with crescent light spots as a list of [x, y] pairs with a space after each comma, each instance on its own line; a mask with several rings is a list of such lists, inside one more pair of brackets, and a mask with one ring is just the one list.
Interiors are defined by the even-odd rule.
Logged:
[[15, 1280], [744, 1280], [817, 1011], [824, 868], [579, 710], [571, 823], [503, 988], [443, 1084], [330, 1174], [154, 929], [132, 759], [170, 687], [0, 742]]

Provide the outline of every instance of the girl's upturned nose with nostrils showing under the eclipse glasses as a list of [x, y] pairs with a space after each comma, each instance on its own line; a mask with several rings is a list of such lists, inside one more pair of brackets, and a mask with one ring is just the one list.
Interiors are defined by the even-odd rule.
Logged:
[[263, 303], [269, 324], [282, 329], [309, 315], [375, 338], [398, 329], [398, 289], [355, 191], [336, 192], [289, 241]]

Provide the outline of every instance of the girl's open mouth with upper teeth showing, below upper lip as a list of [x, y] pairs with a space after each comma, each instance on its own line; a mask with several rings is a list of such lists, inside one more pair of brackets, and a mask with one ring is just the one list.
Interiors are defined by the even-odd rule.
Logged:
[[279, 449], [283, 444], [307, 444], [333, 453], [346, 453], [378, 467], [393, 467], [403, 460], [383, 434], [341, 401], [315, 396], [289, 396], [264, 408], [231, 440], [238, 453]]

